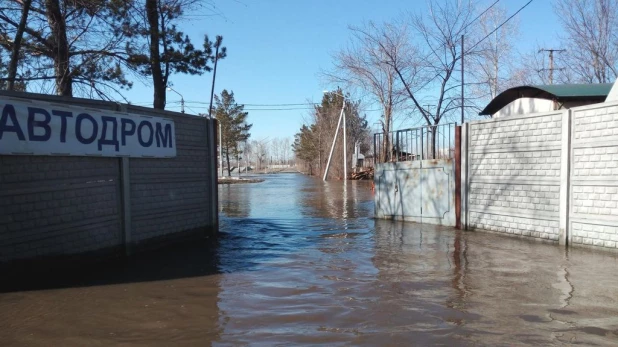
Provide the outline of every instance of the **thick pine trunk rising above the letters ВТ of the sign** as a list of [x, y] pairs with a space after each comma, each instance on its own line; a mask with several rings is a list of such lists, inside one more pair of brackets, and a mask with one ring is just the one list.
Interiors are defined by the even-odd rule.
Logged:
[[52, 32], [54, 45], [54, 72], [56, 76], [56, 94], [73, 96], [73, 78], [69, 70], [69, 42], [67, 27], [62, 16], [59, 0], [45, 0], [47, 22]]

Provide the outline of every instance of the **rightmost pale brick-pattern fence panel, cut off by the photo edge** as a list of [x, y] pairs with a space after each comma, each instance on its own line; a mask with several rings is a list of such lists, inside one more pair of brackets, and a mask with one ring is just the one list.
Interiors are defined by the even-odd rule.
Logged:
[[618, 103], [572, 109], [569, 242], [618, 248]]

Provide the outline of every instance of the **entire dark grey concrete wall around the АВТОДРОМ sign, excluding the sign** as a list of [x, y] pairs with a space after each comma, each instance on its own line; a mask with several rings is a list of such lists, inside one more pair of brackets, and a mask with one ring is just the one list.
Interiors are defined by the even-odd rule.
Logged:
[[177, 150], [173, 158], [0, 155], [0, 263], [130, 254], [216, 232], [216, 121], [96, 100], [0, 96], [171, 119]]

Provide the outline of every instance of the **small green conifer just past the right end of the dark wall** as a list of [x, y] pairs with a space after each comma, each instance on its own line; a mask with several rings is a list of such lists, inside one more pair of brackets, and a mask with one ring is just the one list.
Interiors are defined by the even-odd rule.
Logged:
[[243, 146], [251, 134], [253, 124], [247, 123], [248, 112], [244, 112], [244, 105], [239, 105], [234, 99], [234, 92], [223, 90], [221, 96], [215, 95], [214, 113], [221, 123], [222, 148], [225, 155], [228, 175], [231, 174], [230, 155], [239, 159], [243, 153]]

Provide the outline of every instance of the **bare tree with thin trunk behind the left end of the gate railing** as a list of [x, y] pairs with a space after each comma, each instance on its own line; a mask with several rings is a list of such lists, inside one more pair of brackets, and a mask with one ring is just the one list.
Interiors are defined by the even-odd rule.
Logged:
[[[349, 90], [360, 90], [372, 96], [382, 108], [382, 131], [392, 129], [392, 118], [406, 99], [393, 65], [387, 62], [387, 56], [380, 41], [388, 37], [391, 50], [398, 51], [406, 45], [404, 30], [398, 30], [390, 24], [378, 26], [368, 22], [363, 26], [350, 27], [351, 39], [346, 48], [333, 55], [334, 71], [325, 73], [333, 83], [344, 84]], [[384, 136], [384, 155], [388, 160], [388, 136]]]

